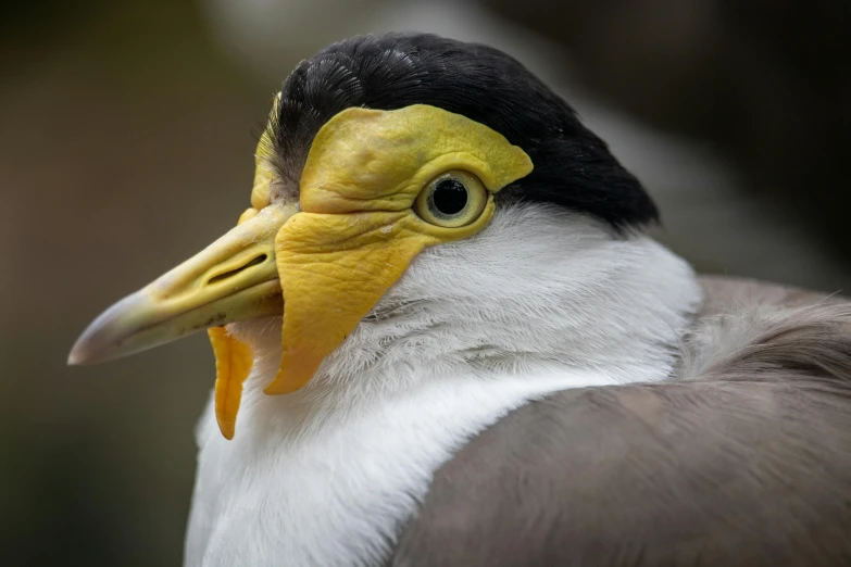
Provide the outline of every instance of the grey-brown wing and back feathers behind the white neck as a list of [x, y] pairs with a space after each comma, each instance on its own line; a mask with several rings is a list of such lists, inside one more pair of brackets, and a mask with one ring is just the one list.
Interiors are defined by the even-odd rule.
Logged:
[[705, 287], [677, 381], [511, 413], [438, 470], [389, 565], [851, 565], [851, 305]]

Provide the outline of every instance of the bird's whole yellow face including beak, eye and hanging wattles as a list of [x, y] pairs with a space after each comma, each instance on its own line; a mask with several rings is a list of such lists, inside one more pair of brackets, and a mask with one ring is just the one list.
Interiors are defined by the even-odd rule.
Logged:
[[212, 324], [216, 418], [228, 439], [253, 353], [222, 325], [280, 313], [283, 294], [284, 354], [264, 391], [302, 388], [424, 248], [480, 231], [493, 194], [533, 168], [523, 150], [459, 114], [352, 108], [316, 134], [297, 204], [272, 199], [272, 147], [265, 134], [253, 207], [238, 226], [104, 313], [72, 352], [72, 362], [114, 357]]

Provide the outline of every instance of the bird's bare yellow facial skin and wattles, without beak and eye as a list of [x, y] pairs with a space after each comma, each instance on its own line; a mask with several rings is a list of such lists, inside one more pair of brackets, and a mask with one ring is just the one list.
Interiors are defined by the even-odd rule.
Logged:
[[[268, 142], [266, 133], [258, 146], [253, 209], [240, 222], [270, 204]], [[483, 213], [458, 228], [426, 223], [412, 209], [421, 190], [449, 169], [476, 175], [489, 192]], [[302, 171], [301, 212], [275, 238], [284, 355], [265, 393], [303, 387], [425, 247], [485, 228], [495, 212], [492, 193], [531, 169], [528, 155], [500, 134], [434, 106], [347, 109], [328, 121]], [[218, 371], [216, 418], [229, 439], [253, 354], [224, 330], [210, 336]]]

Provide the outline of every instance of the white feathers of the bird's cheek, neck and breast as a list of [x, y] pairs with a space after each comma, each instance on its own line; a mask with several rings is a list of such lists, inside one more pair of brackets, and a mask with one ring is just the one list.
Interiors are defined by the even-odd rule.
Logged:
[[700, 300], [648, 237], [518, 206], [424, 251], [299, 392], [262, 394], [279, 319], [231, 326], [259, 357], [234, 441], [199, 424], [187, 564], [380, 563], [471, 436], [553, 391], [664, 379]]

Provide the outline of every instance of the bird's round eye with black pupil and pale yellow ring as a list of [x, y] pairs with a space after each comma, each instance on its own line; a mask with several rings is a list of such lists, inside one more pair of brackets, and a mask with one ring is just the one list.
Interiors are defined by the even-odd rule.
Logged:
[[433, 225], [458, 228], [479, 217], [488, 191], [475, 175], [452, 169], [431, 179], [420, 192], [414, 211]]

